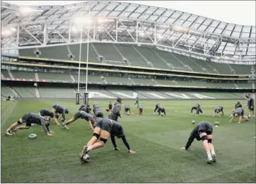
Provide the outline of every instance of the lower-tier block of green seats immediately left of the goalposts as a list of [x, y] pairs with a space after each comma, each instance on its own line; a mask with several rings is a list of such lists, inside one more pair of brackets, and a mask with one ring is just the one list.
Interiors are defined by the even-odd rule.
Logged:
[[41, 98], [75, 98], [76, 91], [72, 88], [45, 88], [39, 87]]

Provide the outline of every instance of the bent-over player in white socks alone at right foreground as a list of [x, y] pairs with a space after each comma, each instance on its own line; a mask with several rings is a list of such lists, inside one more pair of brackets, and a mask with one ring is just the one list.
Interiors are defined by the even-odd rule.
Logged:
[[204, 145], [204, 150], [207, 152], [207, 163], [212, 163], [216, 161], [216, 154], [214, 151], [214, 146], [212, 144], [212, 124], [207, 121], [201, 121], [197, 124], [196, 128], [190, 133], [190, 138], [188, 138], [187, 144], [181, 147], [183, 150], [187, 150], [193, 143], [194, 139], [198, 141], [202, 140]]

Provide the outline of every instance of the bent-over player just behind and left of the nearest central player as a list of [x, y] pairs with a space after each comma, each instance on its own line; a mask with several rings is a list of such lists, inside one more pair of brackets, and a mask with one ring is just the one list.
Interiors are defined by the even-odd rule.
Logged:
[[76, 121], [78, 118], [82, 118], [82, 119], [85, 119], [86, 121], [88, 121], [89, 126], [91, 127], [91, 130], [94, 130], [94, 127], [93, 127], [94, 122], [95, 122], [94, 118], [92, 118], [89, 113], [86, 113], [83, 110], [78, 110], [75, 113], [75, 115], [71, 119], [69, 119], [69, 121], [63, 122], [61, 124], [62, 128], [69, 129], [69, 127], [67, 127], [66, 125], [71, 124], [72, 122]]

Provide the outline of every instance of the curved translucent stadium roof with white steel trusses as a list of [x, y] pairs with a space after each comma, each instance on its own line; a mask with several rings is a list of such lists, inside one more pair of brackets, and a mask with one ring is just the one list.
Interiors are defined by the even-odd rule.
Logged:
[[[27, 10], [15, 4], [1, 4], [2, 26], [4, 31], [9, 30], [8, 27], [18, 28], [19, 34], [15, 35], [18, 47], [78, 42], [79, 38], [72, 37], [73, 28], [77, 29], [74, 20], [89, 15], [94, 24], [90, 33], [84, 30], [85, 40], [89, 35], [90, 40], [155, 44], [208, 57], [255, 60], [255, 26], [229, 24], [177, 10], [125, 2], [87, 1], [65, 6], [32, 6]], [[111, 21], [99, 21], [99, 18]], [[17, 49], [15, 44], [6, 45], [5, 49]]]

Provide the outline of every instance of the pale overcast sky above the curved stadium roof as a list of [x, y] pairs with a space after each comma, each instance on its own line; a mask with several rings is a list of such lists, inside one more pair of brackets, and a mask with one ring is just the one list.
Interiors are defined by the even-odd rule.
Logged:
[[[18, 5], [64, 5], [83, 1], [5, 1]], [[255, 26], [256, 1], [125, 1], [166, 7], [232, 24]]]

